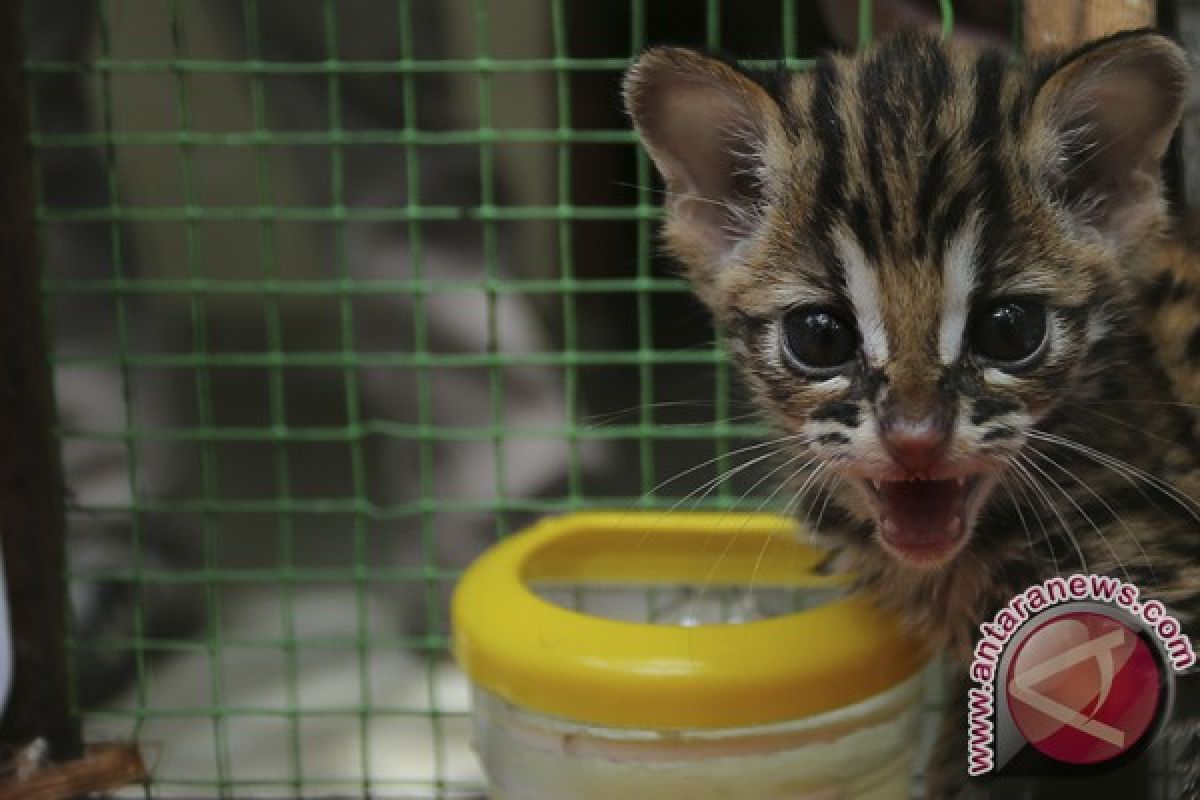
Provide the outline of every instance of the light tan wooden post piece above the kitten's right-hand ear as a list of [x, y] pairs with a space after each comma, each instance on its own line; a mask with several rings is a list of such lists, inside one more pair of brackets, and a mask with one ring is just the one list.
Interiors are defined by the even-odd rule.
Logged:
[[1154, 0], [1025, 0], [1025, 49], [1068, 48], [1156, 22]]

